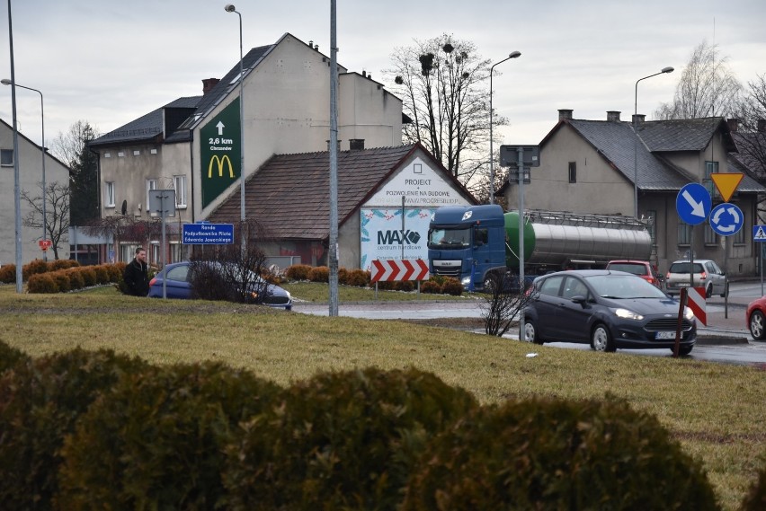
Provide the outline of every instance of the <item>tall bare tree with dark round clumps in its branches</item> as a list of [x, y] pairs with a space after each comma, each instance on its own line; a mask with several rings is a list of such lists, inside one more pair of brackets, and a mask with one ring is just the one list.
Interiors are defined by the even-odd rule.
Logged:
[[[465, 185], [488, 170], [490, 61], [449, 34], [396, 48], [392, 91], [403, 98], [405, 139], [420, 142]], [[507, 124], [495, 116], [494, 126]], [[486, 185], [486, 183], [485, 183]]]

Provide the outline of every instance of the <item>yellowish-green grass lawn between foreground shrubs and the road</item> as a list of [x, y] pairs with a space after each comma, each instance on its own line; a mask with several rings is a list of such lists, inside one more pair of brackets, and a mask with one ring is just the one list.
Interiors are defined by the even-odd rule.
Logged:
[[[327, 295], [322, 285], [286, 287], [307, 301]], [[342, 287], [340, 300], [370, 300], [372, 293]], [[379, 300], [418, 299], [386, 293]], [[111, 348], [158, 364], [224, 361], [281, 384], [323, 370], [414, 366], [485, 403], [533, 395], [600, 398], [610, 392], [654, 413], [701, 459], [729, 510], [739, 506], [766, 463], [766, 377], [753, 367], [539, 347], [407, 322], [135, 298], [113, 287], [17, 295], [14, 286], [0, 286], [0, 318], [0, 340], [34, 357], [76, 346]], [[538, 356], [527, 357], [530, 352]]]

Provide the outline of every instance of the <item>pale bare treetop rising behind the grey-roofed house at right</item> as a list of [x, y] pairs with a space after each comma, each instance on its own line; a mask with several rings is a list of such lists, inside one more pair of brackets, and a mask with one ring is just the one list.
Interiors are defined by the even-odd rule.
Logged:
[[732, 117], [737, 110], [742, 84], [721, 57], [717, 45], [703, 40], [691, 53], [676, 85], [671, 103], [655, 111], [656, 119]]

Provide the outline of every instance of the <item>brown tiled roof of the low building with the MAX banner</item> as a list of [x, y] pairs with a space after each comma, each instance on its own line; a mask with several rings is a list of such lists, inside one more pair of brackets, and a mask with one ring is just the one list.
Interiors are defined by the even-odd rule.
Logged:
[[[431, 159], [421, 145], [402, 145], [338, 153], [338, 224], [351, 216], [411, 154]], [[438, 163], [434, 168], [454, 181]], [[278, 154], [245, 183], [245, 213], [266, 235], [281, 239], [324, 240], [330, 233], [330, 156], [326, 151]], [[457, 182], [457, 181], [454, 181]], [[457, 185], [459, 186], [459, 185]], [[239, 190], [208, 218], [237, 223]], [[468, 196], [469, 197], [469, 196]]]

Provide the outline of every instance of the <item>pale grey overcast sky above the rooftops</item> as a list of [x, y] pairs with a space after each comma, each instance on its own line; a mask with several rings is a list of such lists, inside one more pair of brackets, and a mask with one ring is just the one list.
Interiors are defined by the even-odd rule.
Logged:
[[[2, 78], [10, 78], [8, 7], [0, 23]], [[236, 13], [218, 0], [12, 0], [17, 84], [45, 101], [47, 145], [77, 120], [101, 133], [221, 77], [239, 61]], [[313, 40], [329, 56], [329, 0], [235, 0], [245, 53], [285, 32]], [[471, 40], [495, 67], [494, 108], [510, 126], [503, 144], [538, 144], [558, 109], [575, 119], [653, 119], [671, 101], [681, 71], [702, 40], [715, 43], [746, 85], [766, 73], [764, 0], [338, 0], [338, 62], [387, 84], [395, 48], [449, 33]], [[388, 85], [388, 84], [387, 84]], [[40, 95], [17, 89], [22, 133], [40, 143]], [[329, 101], [329, 100], [328, 100]], [[11, 87], [0, 87], [0, 118], [12, 121]]]

